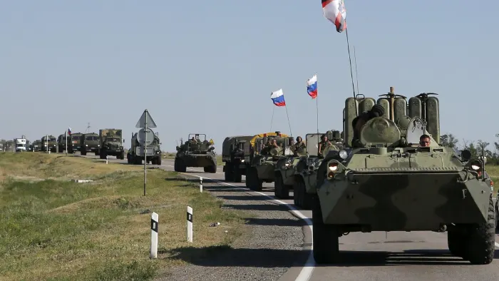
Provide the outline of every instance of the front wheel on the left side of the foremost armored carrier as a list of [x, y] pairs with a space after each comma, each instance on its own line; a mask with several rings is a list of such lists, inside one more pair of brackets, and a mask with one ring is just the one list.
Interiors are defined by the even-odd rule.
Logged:
[[334, 225], [326, 225], [322, 220], [321, 204], [319, 197], [312, 196], [312, 225], [314, 231], [314, 260], [318, 264], [334, 263], [339, 261], [338, 231]]

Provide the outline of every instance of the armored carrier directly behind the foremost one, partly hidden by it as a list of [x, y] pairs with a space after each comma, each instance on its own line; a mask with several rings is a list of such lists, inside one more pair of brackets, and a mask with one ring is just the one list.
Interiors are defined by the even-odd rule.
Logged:
[[[293, 203], [299, 208], [310, 210], [312, 207], [312, 195], [317, 181], [317, 169], [324, 157], [319, 154], [319, 142], [323, 133], [309, 133], [305, 136], [307, 140], [307, 157], [302, 157], [296, 164], [293, 180]], [[324, 148], [323, 155], [329, 150], [343, 148], [342, 138], [339, 131], [327, 131], [325, 133], [331, 145]]]

